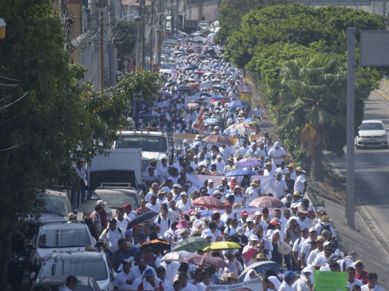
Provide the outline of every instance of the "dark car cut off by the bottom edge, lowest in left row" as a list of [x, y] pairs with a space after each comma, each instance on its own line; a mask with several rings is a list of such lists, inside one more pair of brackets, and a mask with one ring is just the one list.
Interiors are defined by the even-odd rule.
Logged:
[[[67, 276], [48, 276], [33, 285], [31, 291], [59, 291], [66, 284]], [[75, 291], [101, 291], [99, 284], [92, 277], [77, 276], [80, 281]]]

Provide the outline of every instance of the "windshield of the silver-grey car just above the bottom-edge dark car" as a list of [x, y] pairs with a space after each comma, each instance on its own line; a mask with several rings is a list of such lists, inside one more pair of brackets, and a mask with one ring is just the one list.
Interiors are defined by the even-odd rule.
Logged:
[[108, 279], [105, 261], [86, 256], [48, 259], [39, 272], [39, 278], [67, 275], [93, 277], [96, 281]]

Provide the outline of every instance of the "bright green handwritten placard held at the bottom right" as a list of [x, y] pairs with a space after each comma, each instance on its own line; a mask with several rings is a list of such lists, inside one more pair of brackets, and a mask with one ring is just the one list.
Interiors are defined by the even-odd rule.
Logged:
[[315, 271], [315, 291], [347, 291], [347, 272]]

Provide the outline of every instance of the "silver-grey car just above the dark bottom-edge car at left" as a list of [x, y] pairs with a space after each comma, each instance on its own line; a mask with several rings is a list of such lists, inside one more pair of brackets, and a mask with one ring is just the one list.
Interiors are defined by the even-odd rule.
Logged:
[[92, 277], [101, 290], [110, 291], [113, 290], [116, 273], [104, 252], [54, 251], [44, 261], [36, 278], [34, 275], [30, 275], [30, 278], [35, 279], [35, 284], [39, 284], [47, 276]]

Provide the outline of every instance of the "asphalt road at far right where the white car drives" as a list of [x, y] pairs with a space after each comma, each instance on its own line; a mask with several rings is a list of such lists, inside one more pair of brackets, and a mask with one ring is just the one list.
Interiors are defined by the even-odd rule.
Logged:
[[[379, 94], [380, 93], [380, 94]], [[389, 128], [389, 97], [373, 91], [365, 103], [364, 119], [379, 119]], [[346, 155], [338, 159], [328, 155], [331, 162], [346, 175]], [[364, 206], [371, 226], [381, 235], [384, 244], [389, 241], [389, 150], [355, 149], [355, 196], [356, 204]], [[388, 249], [388, 248], [387, 248]]]

